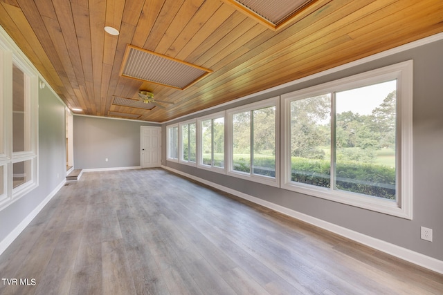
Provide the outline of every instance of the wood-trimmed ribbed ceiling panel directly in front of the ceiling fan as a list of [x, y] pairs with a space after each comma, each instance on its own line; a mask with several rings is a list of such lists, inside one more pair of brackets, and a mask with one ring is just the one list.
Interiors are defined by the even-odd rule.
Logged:
[[152, 51], [127, 46], [120, 75], [163, 86], [185, 89], [203, 79], [212, 70], [201, 68]]

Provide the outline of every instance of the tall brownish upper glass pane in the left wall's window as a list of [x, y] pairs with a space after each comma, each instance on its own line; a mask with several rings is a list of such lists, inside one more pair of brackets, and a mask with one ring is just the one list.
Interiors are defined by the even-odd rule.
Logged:
[[25, 140], [26, 126], [25, 76], [12, 66], [12, 151], [28, 151]]

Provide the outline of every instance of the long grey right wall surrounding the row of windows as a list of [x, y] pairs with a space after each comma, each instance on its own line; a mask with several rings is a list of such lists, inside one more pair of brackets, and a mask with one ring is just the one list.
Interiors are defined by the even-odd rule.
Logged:
[[[251, 99], [236, 102], [224, 108], [213, 109], [207, 113], [215, 113], [232, 108], [239, 104], [248, 104], [275, 95], [289, 93], [298, 89], [322, 84], [324, 82], [347, 77], [367, 70], [396, 64], [408, 59], [414, 60], [414, 102], [413, 102], [413, 132], [414, 132], [414, 204], [413, 220], [406, 220], [386, 214], [377, 213], [338, 202], [323, 200], [313, 196], [303, 195], [293, 191], [269, 187], [256, 182], [249, 182], [228, 175], [211, 173], [195, 167], [166, 162], [166, 166], [195, 175], [216, 184], [230, 187], [247, 193], [262, 200], [293, 209], [309, 216], [332, 222], [335, 225], [372, 236], [379, 240], [416, 251], [418, 253], [443, 260], [443, 41], [420, 46], [383, 57], [367, 64], [354, 66], [338, 73], [326, 75], [308, 82], [289, 86], [285, 89], [257, 95]], [[229, 91], [229, 89], [226, 89]], [[190, 115], [182, 120], [188, 120], [197, 115]], [[177, 121], [178, 122], [178, 121]], [[168, 122], [172, 124], [174, 122]], [[165, 134], [163, 124], [163, 134]], [[164, 144], [163, 140], [163, 146]], [[163, 151], [163, 155], [166, 152]], [[163, 158], [165, 160], [165, 158]], [[433, 229], [433, 242], [420, 239], [420, 227]]]

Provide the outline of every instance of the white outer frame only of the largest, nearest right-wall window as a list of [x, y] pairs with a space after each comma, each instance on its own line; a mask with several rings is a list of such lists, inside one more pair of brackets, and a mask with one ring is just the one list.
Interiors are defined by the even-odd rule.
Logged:
[[[397, 79], [397, 202], [348, 191], [316, 187], [291, 181], [291, 102], [325, 93], [350, 90]], [[404, 61], [333, 82], [282, 95], [284, 115], [282, 188], [334, 202], [412, 220], [413, 218], [413, 61]], [[333, 117], [333, 116], [332, 116]]]

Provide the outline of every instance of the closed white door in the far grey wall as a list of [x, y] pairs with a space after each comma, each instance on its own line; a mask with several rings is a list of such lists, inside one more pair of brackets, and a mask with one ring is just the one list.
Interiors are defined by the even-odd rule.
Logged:
[[141, 126], [141, 167], [161, 166], [161, 127]]

